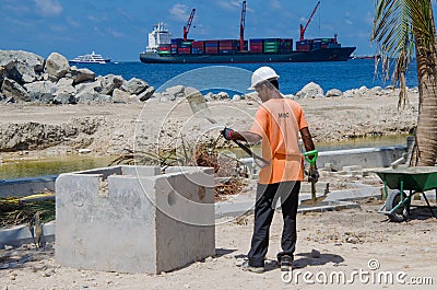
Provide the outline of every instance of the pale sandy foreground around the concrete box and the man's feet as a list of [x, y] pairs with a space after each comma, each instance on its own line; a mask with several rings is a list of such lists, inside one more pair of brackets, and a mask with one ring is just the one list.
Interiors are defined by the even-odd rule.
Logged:
[[[217, 221], [215, 256], [160, 275], [61, 267], [56, 263], [51, 247], [46, 252], [37, 252], [31, 245], [19, 250], [2, 250], [0, 254], [9, 255], [10, 259], [19, 259], [25, 255], [31, 255], [32, 259], [20, 267], [0, 270], [0, 287], [10, 290], [265, 287], [435, 289], [437, 220], [430, 217], [426, 208], [413, 208], [411, 221], [388, 222], [383, 214], [377, 213], [379, 204], [379, 200], [368, 199], [362, 202], [361, 209], [298, 214], [298, 243], [291, 282], [287, 277], [282, 277], [273, 260], [280, 250], [282, 228], [281, 214], [276, 212], [264, 274], [246, 272], [236, 266], [249, 250], [253, 217], [247, 216], [245, 222], [239, 223], [234, 220]], [[315, 251], [320, 253], [319, 257], [311, 254]], [[339, 272], [344, 274], [346, 279], [339, 282], [334, 276]], [[362, 276], [358, 276], [359, 272]], [[330, 282], [330, 277], [335, 278], [334, 282]], [[393, 282], [386, 277], [393, 277]], [[423, 285], [413, 285], [417, 282]], [[434, 288], [429, 285], [432, 282]]]

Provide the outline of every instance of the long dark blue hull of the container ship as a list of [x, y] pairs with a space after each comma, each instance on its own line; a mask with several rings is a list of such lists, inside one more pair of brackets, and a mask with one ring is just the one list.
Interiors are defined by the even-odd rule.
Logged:
[[145, 63], [250, 63], [250, 62], [319, 62], [346, 61], [355, 47], [320, 48], [310, 51], [286, 54], [234, 53], [216, 55], [158, 55], [141, 53], [140, 60]]

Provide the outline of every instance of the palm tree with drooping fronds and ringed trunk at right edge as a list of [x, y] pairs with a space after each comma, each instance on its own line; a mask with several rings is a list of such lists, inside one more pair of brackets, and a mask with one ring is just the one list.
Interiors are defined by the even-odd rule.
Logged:
[[434, 166], [437, 158], [437, 53], [430, 0], [376, 0], [371, 40], [378, 44], [382, 67], [394, 61], [392, 81], [405, 104], [404, 73], [414, 53], [418, 79], [418, 117], [412, 165]]

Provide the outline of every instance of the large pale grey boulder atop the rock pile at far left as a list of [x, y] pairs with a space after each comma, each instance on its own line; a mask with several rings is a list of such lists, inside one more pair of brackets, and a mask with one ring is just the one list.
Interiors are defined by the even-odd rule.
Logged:
[[42, 80], [45, 65], [43, 57], [22, 50], [0, 50], [0, 66], [5, 66], [10, 61], [14, 62], [24, 82]]

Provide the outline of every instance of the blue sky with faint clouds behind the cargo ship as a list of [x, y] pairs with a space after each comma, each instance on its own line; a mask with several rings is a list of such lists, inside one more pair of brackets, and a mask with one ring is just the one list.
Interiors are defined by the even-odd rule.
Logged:
[[[247, 0], [245, 39], [298, 40], [317, 0]], [[321, 0], [306, 38], [333, 37], [356, 46], [356, 55], [374, 55], [370, 31], [374, 0]], [[147, 34], [164, 22], [182, 37], [191, 9], [193, 39], [239, 38], [241, 0], [0, 0], [0, 49], [26, 50], [68, 59], [95, 50], [113, 61], [139, 61]]]

